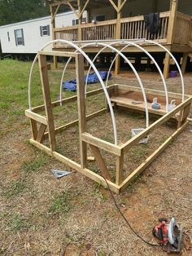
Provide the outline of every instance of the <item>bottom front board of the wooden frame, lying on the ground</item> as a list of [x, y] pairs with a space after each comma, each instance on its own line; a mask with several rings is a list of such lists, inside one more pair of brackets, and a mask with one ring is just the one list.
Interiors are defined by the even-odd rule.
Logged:
[[[103, 185], [104, 188], [107, 188], [105, 179], [103, 179], [103, 177], [101, 177], [100, 175], [95, 174], [92, 170], [86, 168], [82, 169], [80, 164], [76, 163], [75, 161], [72, 161], [68, 157], [64, 157], [63, 155], [59, 154], [59, 152], [52, 152], [50, 148], [47, 148], [45, 145], [41, 143], [38, 143], [34, 139], [30, 139], [30, 143], [32, 143], [33, 146], [35, 146], [36, 148], [39, 148], [42, 151], [46, 152], [49, 156], [55, 157], [55, 159], [57, 159], [58, 161], [63, 162], [64, 165], [69, 166], [74, 170], [77, 170], [78, 172], [84, 174], [89, 179], [92, 179], [95, 182]], [[115, 183], [112, 183], [110, 180], [107, 180], [107, 183], [109, 184], [109, 187], [111, 188], [112, 192], [116, 192], [117, 194], [119, 194], [119, 186], [117, 186]]]

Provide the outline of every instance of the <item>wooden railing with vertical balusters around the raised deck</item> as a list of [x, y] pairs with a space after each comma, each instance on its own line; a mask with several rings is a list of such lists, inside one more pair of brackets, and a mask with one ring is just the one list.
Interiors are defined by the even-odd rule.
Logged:
[[[151, 35], [146, 29], [143, 15], [120, 19], [120, 39], [146, 38], [158, 42], [168, 42], [168, 22], [170, 11], [160, 13], [160, 29]], [[189, 15], [177, 12], [173, 43], [189, 44], [192, 42], [192, 23]], [[81, 33], [78, 33], [81, 29]], [[107, 20], [96, 24], [81, 24], [54, 29], [55, 39], [68, 41], [110, 40], [116, 38], [116, 20]], [[78, 35], [81, 34], [81, 38]], [[57, 44], [59, 46], [59, 44]]]

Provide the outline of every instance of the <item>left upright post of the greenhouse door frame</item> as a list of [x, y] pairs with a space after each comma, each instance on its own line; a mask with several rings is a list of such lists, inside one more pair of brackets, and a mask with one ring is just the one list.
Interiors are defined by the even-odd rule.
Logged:
[[51, 105], [51, 99], [50, 99], [50, 85], [49, 85], [49, 78], [48, 78], [48, 72], [47, 72], [46, 55], [39, 55], [38, 61], [39, 61], [43, 99], [45, 102], [45, 109], [46, 109], [46, 120], [47, 120], [47, 128], [49, 133], [50, 149], [51, 151], [55, 151], [56, 149], [55, 125], [54, 125], [54, 116], [52, 112], [52, 105]]

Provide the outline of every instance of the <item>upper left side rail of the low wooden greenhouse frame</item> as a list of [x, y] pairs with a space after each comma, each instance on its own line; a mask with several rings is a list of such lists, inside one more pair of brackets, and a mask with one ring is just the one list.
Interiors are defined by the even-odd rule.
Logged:
[[[113, 87], [114, 86], [107, 86], [108, 92], [110, 92], [113, 89]], [[98, 94], [102, 94], [102, 93], [104, 93], [103, 88], [91, 90], [86, 93], [86, 97], [90, 97], [90, 96], [98, 95]], [[62, 104], [68, 104], [68, 103], [74, 102], [74, 101], [76, 101], [76, 99], [77, 99], [77, 95], [66, 98], [66, 99], [62, 99]], [[52, 102], [52, 108], [55, 108], [58, 106], [60, 106], [60, 100], [56, 100], [56, 101]], [[45, 109], [45, 104], [37, 106], [35, 108], [32, 108], [32, 111], [37, 113], [44, 109]]]

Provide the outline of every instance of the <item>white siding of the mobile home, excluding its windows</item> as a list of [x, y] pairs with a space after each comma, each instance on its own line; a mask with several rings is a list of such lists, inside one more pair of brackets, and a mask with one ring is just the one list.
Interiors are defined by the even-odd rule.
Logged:
[[[83, 16], [86, 17], [86, 12]], [[76, 15], [72, 11], [68, 11], [56, 15], [55, 24], [56, 27], [72, 26], [72, 20], [75, 19]], [[40, 26], [48, 24], [50, 25], [50, 36], [41, 37]], [[24, 30], [24, 46], [15, 45], [15, 29]], [[7, 32], [10, 35], [10, 42], [8, 41]], [[50, 16], [2, 26], [0, 27], [0, 40], [3, 53], [37, 53], [46, 42], [52, 40]]]

